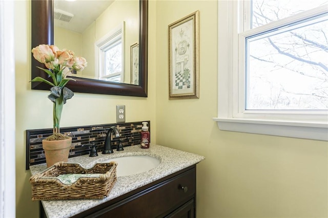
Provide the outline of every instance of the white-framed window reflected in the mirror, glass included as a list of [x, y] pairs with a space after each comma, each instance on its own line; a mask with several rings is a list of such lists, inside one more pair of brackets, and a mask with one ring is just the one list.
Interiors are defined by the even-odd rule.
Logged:
[[124, 81], [124, 27], [123, 22], [95, 43], [95, 72], [101, 80]]

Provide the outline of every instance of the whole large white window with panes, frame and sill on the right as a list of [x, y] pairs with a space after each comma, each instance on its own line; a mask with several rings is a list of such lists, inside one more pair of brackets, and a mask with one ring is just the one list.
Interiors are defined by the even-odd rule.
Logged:
[[328, 140], [327, 1], [218, 1], [218, 10], [219, 128]]

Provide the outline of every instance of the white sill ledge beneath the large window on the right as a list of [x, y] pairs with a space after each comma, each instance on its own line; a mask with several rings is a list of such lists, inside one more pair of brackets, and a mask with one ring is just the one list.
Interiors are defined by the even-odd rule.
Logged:
[[328, 123], [213, 118], [221, 130], [328, 141]]

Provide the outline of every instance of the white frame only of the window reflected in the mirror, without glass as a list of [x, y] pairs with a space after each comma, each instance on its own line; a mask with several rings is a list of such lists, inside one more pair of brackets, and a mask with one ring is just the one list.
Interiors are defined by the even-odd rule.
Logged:
[[[106, 48], [117, 41], [121, 41], [122, 49], [122, 70], [114, 74], [106, 75], [105, 52]], [[121, 25], [108, 32], [95, 42], [95, 72], [98, 79], [105, 79], [120, 75], [120, 81], [124, 82], [124, 61], [125, 61], [125, 21]]]

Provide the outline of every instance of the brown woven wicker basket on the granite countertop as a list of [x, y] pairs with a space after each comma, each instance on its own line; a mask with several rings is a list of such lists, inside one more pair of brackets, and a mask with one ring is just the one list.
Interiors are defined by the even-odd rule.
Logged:
[[[116, 162], [97, 163], [91, 169], [80, 164], [58, 162], [30, 178], [32, 201], [66, 199], [103, 199], [116, 182]], [[100, 173], [95, 177], [80, 177], [72, 184], [64, 184], [57, 177], [65, 174]], [[103, 173], [103, 174], [101, 174]]]

